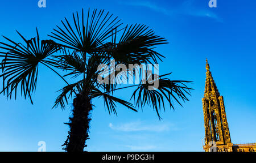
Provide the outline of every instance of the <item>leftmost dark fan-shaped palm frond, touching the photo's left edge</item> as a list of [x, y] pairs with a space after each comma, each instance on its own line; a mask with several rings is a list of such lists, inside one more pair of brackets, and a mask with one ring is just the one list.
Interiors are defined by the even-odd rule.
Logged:
[[[18, 31], [17, 31], [18, 32]], [[0, 42], [0, 57], [2, 58], [1, 69], [3, 78], [3, 91], [11, 98], [15, 94], [20, 85], [21, 95], [30, 98], [31, 93], [35, 91], [36, 81], [38, 77], [38, 64], [44, 62], [44, 59], [49, 55], [57, 52], [61, 48], [56, 46], [52, 40], [40, 41], [38, 29], [36, 29], [37, 36], [26, 40], [19, 32], [25, 44], [15, 42], [10, 38], [3, 36], [8, 42]]]

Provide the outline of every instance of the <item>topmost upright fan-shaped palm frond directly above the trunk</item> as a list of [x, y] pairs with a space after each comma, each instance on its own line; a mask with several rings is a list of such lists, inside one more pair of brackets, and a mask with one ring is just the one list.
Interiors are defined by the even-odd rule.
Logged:
[[117, 17], [113, 18], [113, 14], [110, 15], [109, 12], [105, 14], [104, 10], [93, 10], [90, 14], [90, 9], [85, 20], [82, 10], [81, 18], [78, 12], [73, 13], [73, 26], [65, 18], [65, 21], [61, 20], [64, 27], [56, 25], [57, 29], [53, 29], [54, 32], [49, 36], [61, 41], [63, 46], [86, 55], [97, 51], [97, 47], [112, 36], [115, 28], [121, 25], [119, 22], [120, 20]]

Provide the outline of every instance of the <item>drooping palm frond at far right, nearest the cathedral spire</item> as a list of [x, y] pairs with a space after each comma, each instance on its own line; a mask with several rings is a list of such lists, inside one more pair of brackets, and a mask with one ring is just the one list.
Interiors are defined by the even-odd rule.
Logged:
[[159, 119], [161, 119], [159, 111], [161, 106], [165, 111], [165, 104], [164, 101], [166, 100], [170, 105], [170, 108], [174, 109], [174, 99], [180, 106], [180, 100], [189, 101], [187, 95], [190, 95], [190, 90], [192, 88], [187, 87], [186, 83], [191, 83], [191, 81], [184, 81], [184, 80], [170, 80], [167, 78], [161, 79], [163, 76], [159, 76], [159, 84], [157, 89], [149, 89], [152, 87], [152, 84], [146, 82], [141, 83], [137, 89], [135, 89], [131, 98], [134, 98], [136, 106], [139, 108], [143, 108], [144, 105], [152, 105], [152, 108], [156, 111]]

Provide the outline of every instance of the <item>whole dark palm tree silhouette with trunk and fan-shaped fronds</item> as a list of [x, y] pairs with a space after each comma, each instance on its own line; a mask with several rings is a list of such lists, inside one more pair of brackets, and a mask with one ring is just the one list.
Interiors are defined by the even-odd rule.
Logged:
[[[71, 23], [73, 22], [73, 23]], [[186, 83], [190, 81], [170, 80], [164, 76], [149, 73], [154, 80], [158, 80], [158, 89], [150, 90], [152, 84], [140, 82], [131, 86], [121, 87], [110, 78], [109, 84], [99, 83], [98, 76], [102, 70], [98, 66], [102, 63], [110, 65], [111, 61], [116, 64], [122, 63], [129, 67], [129, 64], [152, 64], [162, 61], [163, 55], [154, 50], [156, 45], [167, 44], [166, 39], [156, 36], [152, 29], [146, 25], [135, 24], [122, 27], [121, 21], [104, 10], [93, 10], [84, 17], [82, 10], [73, 13], [73, 20], [69, 22], [66, 18], [61, 21], [62, 27], [56, 25], [56, 29], [49, 37], [53, 40], [40, 40], [38, 29], [37, 36], [26, 40], [24, 43], [15, 42], [5, 37], [7, 43], [0, 42], [0, 57], [2, 58], [0, 78], [3, 79], [3, 90], [1, 93], [11, 98], [17, 95], [20, 88], [21, 96], [30, 98], [35, 92], [38, 76], [38, 65], [43, 64], [60, 76], [67, 85], [60, 89], [60, 95], [53, 107], [60, 106], [62, 109], [69, 98], [73, 99], [73, 114], [69, 118], [70, 131], [68, 138], [63, 144], [63, 149], [68, 152], [82, 152], [86, 147], [85, 141], [89, 139], [90, 111], [93, 109], [92, 99], [102, 97], [109, 114], [117, 114], [116, 104], [121, 104], [131, 110], [137, 111], [135, 106], [143, 108], [144, 105], [151, 105], [160, 119], [159, 110], [164, 108], [164, 101], [168, 101], [170, 108], [174, 109], [174, 99], [181, 105], [180, 100], [187, 100], [190, 95]], [[4, 36], [3, 36], [4, 37]], [[65, 70], [64, 76], [58, 71]], [[149, 70], [146, 70], [150, 72]], [[119, 71], [120, 72], [120, 71]], [[133, 75], [135, 70], [129, 70]], [[111, 71], [110, 76], [117, 75], [117, 71]], [[66, 78], [75, 81], [69, 84]], [[108, 79], [108, 78], [102, 78]], [[117, 98], [113, 92], [119, 89], [134, 87], [131, 99], [134, 105], [128, 101]], [[130, 99], [130, 100], [131, 100]]]

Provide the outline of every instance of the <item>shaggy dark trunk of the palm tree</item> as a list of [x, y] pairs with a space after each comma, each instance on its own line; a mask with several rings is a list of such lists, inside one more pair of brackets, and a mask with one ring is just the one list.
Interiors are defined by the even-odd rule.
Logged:
[[77, 95], [73, 100], [73, 115], [69, 117], [68, 139], [65, 141], [67, 152], [84, 152], [85, 141], [89, 139], [90, 110], [92, 104], [86, 96]]

